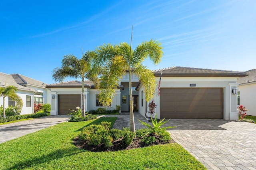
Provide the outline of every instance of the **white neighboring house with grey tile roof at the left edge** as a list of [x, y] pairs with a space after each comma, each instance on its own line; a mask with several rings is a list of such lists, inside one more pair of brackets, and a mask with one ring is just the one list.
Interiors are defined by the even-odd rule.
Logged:
[[[34, 103], [47, 103], [46, 97], [49, 90], [46, 89], [46, 84], [41, 81], [37, 81], [20, 74], [10, 75], [0, 73], [0, 87], [10, 85], [17, 88], [16, 93], [22, 98], [23, 107], [20, 113], [21, 115], [34, 113]], [[6, 97], [5, 101], [6, 108], [8, 106], [16, 105], [16, 103], [10, 97]], [[0, 98], [0, 105], [3, 105], [2, 97]]]

